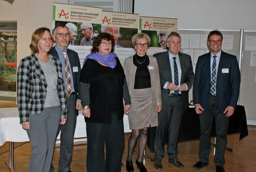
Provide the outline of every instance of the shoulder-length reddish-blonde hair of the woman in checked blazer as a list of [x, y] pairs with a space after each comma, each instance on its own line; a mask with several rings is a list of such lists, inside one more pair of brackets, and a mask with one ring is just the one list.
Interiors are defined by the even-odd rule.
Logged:
[[41, 28], [38, 28], [36, 31], [34, 31], [34, 33], [32, 34], [31, 43], [30, 43], [29, 47], [33, 53], [39, 52], [38, 41], [44, 36], [45, 31], [48, 31], [49, 34], [51, 35], [52, 46], [51, 46], [51, 49], [49, 50], [49, 52], [52, 52], [54, 42], [53, 42], [53, 37], [52, 37], [51, 31], [48, 28], [41, 27]]

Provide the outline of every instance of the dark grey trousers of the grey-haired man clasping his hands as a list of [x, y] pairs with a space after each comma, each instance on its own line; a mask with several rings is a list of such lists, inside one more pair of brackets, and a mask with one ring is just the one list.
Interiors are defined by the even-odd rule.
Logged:
[[184, 105], [180, 97], [168, 97], [163, 103], [162, 111], [158, 113], [158, 127], [154, 138], [155, 159], [165, 155], [165, 140], [167, 137], [167, 154], [169, 158], [177, 157], [177, 140], [180, 131]]

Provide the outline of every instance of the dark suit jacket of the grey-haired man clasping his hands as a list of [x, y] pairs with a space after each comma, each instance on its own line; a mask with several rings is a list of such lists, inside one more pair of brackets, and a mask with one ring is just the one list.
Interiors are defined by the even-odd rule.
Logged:
[[[173, 82], [168, 51], [169, 50], [167, 50], [166, 52], [160, 52], [153, 55], [154, 57], [156, 57], [158, 62], [160, 82], [161, 82], [162, 105], [164, 105], [164, 102], [166, 102], [170, 92], [169, 89], [163, 89], [163, 86], [165, 85], [166, 82]], [[179, 52], [179, 59], [181, 62], [181, 84], [186, 83], [189, 89], [192, 86], [194, 81], [194, 72], [193, 72], [191, 56]], [[184, 109], [187, 109], [188, 108], [188, 90], [181, 91], [181, 96], [183, 99]]]

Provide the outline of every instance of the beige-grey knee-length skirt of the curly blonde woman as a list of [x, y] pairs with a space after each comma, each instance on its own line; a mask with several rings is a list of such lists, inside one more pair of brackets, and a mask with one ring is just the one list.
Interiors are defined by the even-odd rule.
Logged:
[[158, 113], [155, 112], [156, 100], [152, 97], [151, 88], [134, 89], [131, 95], [132, 107], [128, 113], [131, 130], [158, 126]]

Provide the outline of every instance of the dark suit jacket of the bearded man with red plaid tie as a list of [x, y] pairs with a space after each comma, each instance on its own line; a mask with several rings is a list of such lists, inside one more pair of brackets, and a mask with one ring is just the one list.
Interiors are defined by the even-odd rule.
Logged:
[[[56, 46], [56, 45], [55, 45]], [[50, 54], [52, 56], [59, 58], [58, 52], [55, 49], [55, 46], [53, 47], [53, 52], [51, 52]], [[80, 83], [79, 83], [79, 78], [80, 78], [80, 73], [81, 73], [81, 65], [80, 65], [80, 60], [79, 60], [79, 56], [77, 54], [77, 52], [71, 50], [71, 49], [67, 49], [67, 53], [68, 53], [68, 59], [69, 59], [69, 63], [72, 69], [72, 76], [73, 76], [73, 82], [74, 82], [74, 89], [75, 89], [75, 99], [79, 99], [81, 100], [80, 97]], [[73, 71], [73, 67], [78, 67], [78, 72], [74, 72]], [[76, 115], [78, 116], [78, 110], [75, 110]]]

